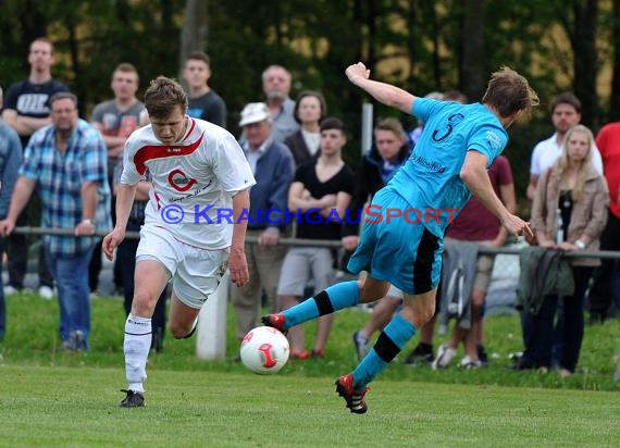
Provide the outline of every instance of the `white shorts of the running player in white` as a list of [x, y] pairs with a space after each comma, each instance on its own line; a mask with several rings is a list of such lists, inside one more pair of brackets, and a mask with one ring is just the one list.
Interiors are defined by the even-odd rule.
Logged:
[[142, 225], [136, 263], [156, 260], [166, 270], [175, 296], [200, 309], [228, 267], [228, 249], [207, 250], [181, 242], [162, 227]]

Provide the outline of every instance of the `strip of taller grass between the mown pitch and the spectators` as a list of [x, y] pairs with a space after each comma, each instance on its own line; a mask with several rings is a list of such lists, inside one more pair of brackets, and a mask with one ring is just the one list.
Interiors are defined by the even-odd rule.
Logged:
[[[0, 343], [0, 354], [5, 365], [23, 366], [85, 366], [117, 369], [116, 385], [123, 386], [123, 328], [124, 310], [120, 300], [98, 299], [92, 303], [92, 349], [88, 353], [62, 353], [58, 337], [58, 303], [45, 301], [32, 294], [8, 298], [8, 331]], [[290, 377], [318, 376], [332, 381], [356, 365], [351, 334], [368, 319], [367, 313], [356, 309], [342, 311], [336, 321], [325, 358], [322, 360], [290, 361], [278, 375]], [[396, 360], [381, 375], [381, 379], [412, 379], [430, 383], [454, 383], [472, 385], [528, 386], [541, 388], [619, 390], [613, 383], [612, 357], [620, 349], [620, 321], [611, 320], [605, 325], [588, 326], [579, 370], [568, 379], [561, 379], [556, 372], [547, 375], [537, 372], [512, 372], [508, 354], [522, 350], [521, 331], [517, 316], [491, 316], [485, 321], [485, 339], [492, 356], [487, 369], [462, 372], [456, 366], [445, 371], [429, 368], [411, 369]], [[234, 335], [235, 315], [227, 313], [227, 359], [237, 354], [238, 341]], [[306, 326], [307, 339], [314, 334], [314, 323]], [[436, 337], [435, 347], [446, 337]], [[410, 341], [402, 352], [408, 353], [418, 338]], [[243, 373], [245, 368], [237, 362], [201, 361], [196, 357], [196, 339], [174, 340], [166, 334], [164, 351], [149, 359], [149, 382], [159, 371], [212, 371]], [[462, 348], [460, 349], [462, 350]], [[462, 354], [462, 353], [459, 353]], [[1, 365], [1, 363], [0, 363]], [[1, 369], [0, 369], [1, 370]]]

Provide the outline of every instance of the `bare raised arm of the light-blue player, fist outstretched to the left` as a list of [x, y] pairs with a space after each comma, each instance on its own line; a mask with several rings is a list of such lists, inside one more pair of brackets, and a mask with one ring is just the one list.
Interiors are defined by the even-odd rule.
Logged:
[[390, 84], [370, 79], [370, 70], [363, 63], [349, 65], [345, 74], [352, 84], [365, 90], [375, 100], [411, 114], [417, 97]]

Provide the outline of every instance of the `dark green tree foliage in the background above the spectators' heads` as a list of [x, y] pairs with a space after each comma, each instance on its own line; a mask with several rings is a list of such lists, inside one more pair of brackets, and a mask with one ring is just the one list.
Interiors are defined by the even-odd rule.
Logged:
[[[357, 165], [360, 154], [361, 104], [372, 101], [344, 76], [346, 66], [365, 61], [376, 79], [395, 83], [417, 95], [460, 89], [462, 85], [464, 9], [476, 2], [456, 0], [265, 0], [210, 1], [204, 50], [212, 58], [212, 87], [228, 107], [228, 128], [239, 134], [238, 113], [262, 98], [261, 73], [270, 64], [287, 66], [294, 75], [295, 97], [301, 89], [323, 91], [330, 114], [340, 116], [351, 139], [345, 159]], [[489, 72], [510, 65], [538, 91], [542, 107], [529, 124], [511, 129], [508, 155], [523, 197], [529, 159], [535, 142], [551, 133], [547, 105], [559, 91], [573, 89], [570, 33], [579, 28], [573, 11], [583, 2], [524, 0], [482, 2], [484, 50], [475, 58], [484, 85]], [[148, 82], [163, 74], [178, 77], [179, 37], [186, 1], [34, 1], [4, 0], [0, 15], [0, 83], [7, 88], [27, 75], [29, 42], [47, 35], [57, 48], [54, 75], [66, 82], [80, 100], [82, 115], [111, 97], [110, 75], [120, 62], [134, 63]], [[612, 54], [613, 12], [600, 5], [598, 47], [602, 58]], [[607, 37], [607, 38], [606, 38]], [[585, 60], [585, 59], [584, 59]], [[603, 59], [605, 60], [605, 59]], [[598, 71], [598, 67], [588, 67]], [[475, 89], [474, 89], [475, 90]], [[608, 92], [592, 91], [588, 97]], [[470, 98], [476, 101], [479, 98]], [[613, 108], [610, 108], [613, 109]], [[584, 117], [596, 123], [594, 116]], [[414, 120], [384, 107], [375, 117], [394, 115], [408, 128]], [[596, 128], [594, 129], [596, 130]], [[365, 149], [365, 148], [364, 148]]]

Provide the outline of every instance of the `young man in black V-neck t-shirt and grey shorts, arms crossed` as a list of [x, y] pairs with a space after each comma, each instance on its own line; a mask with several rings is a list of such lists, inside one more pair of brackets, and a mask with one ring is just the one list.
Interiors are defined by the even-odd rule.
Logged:
[[[342, 158], [346, 142], [345, 127], [340, 120], [327, 117], [321, 122], [321, 155], [297, 169], [288, 190], [290, 214], [298, 216], [298, 238], [340, 240], [355, 183], [352, 170]], [[282, 309], [299, 303], [310, 278], [314, 281], [315, 290], [330, 286], [334, 281], [334, 254], [330, 248], [289, 248], [277, 285]], [[333, 322], [333, 314], [319, 319], [311, 352], [305, 350], [302, 326], [290, 328], [290, 356], [298, 359], [323, 357]]]

